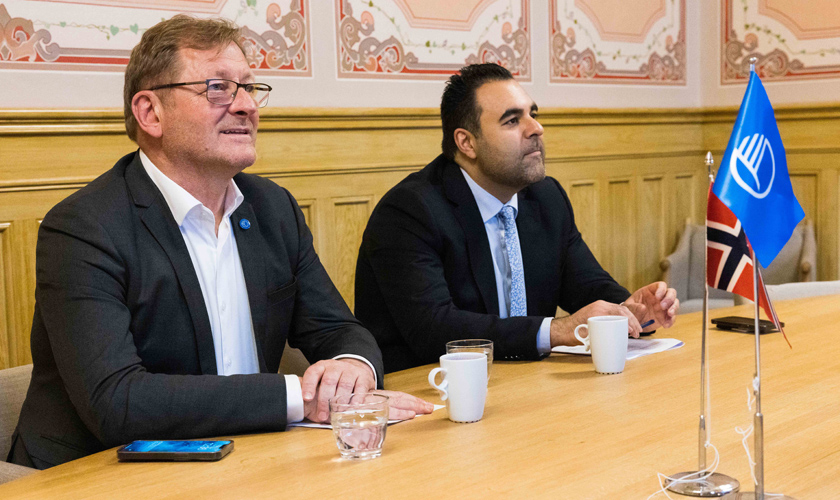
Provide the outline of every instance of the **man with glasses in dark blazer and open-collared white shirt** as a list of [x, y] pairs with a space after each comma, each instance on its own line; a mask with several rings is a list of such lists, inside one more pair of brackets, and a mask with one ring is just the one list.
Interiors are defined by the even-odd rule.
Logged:
[[[336, 394], [381, 387], [379, 349], [294, 198], [241, 173], [271, 87], [239, 40], [229, 22], [176, 16], [132, 52], [125, 117], [139, 151], [41, 226], [12, 461], [43, 469], [134, 439], [279, 431], [327, 420]], [[277, 373], [287, 339], [315, 363], [301, 380]], [[431, 411], [388, 394], [392, 418]]]

